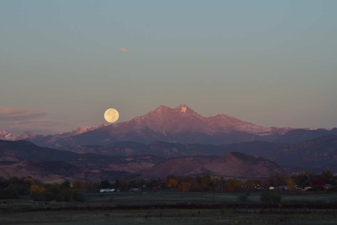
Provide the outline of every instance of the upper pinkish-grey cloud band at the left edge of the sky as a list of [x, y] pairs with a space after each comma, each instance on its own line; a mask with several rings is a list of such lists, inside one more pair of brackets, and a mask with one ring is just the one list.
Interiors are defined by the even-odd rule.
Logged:
[[15, 118], [15, 117], [35, 117], [35, 116], [45, 116], [47, 111], [41, 109], [30, 109], [30, 108], [0, 108], [0, 117], [5, 118]]

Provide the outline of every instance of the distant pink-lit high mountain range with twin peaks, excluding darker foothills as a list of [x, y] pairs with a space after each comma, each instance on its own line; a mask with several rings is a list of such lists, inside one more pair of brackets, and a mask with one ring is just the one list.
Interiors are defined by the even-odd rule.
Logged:
[[[289, 133], [290, 132], [290, 133]], [[78, 145], [108, 145], [121, 141], [150, 144], [155, 141], [223, 145], [249, 141], [297, 143], [324, 134], [337, 135], [337, 129], [266, 128], [233, 116], [203, 117], [186, 105], [160, 106], [146, 115], [116, 124], [80, 127], [53, 135], [25, 132], [15, 136], [0, 131], [2, 140], [29, 140], [42, 147], [66, 149]]]

